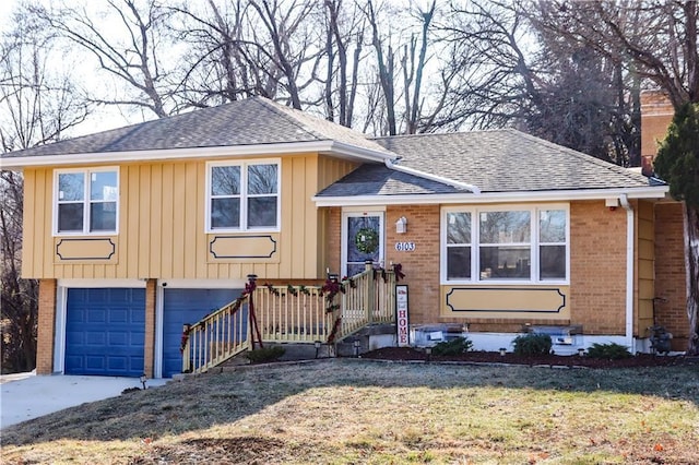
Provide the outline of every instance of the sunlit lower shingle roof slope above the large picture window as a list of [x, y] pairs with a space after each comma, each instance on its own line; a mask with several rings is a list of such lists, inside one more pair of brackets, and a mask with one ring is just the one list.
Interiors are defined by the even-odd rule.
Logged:
[[640, 174], [513, 129], [376, 141], [402, 157], [399, 166], [475, 184], [482, 192], [649, 186]]

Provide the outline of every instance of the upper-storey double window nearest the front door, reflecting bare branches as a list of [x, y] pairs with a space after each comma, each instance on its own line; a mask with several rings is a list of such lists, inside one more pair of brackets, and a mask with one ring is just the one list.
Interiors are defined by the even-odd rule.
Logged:
[[208, 184], [208, 230], [279, 228], [277, 162], [211, 164]]

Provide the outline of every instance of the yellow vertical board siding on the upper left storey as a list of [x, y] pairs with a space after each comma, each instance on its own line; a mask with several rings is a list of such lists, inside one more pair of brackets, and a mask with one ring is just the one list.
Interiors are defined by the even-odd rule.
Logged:
[[[325, 220], [311, 196], [356, 165], [318, 154], [273, 158], [281, 158], [282, 165], [279, 233], [221, 235], [265, 236], [262, 240], [273, 240], [275, 250], [264, 259], [216, 259], [210, 253], [216, 235], [205, 233], [203, 159], [118, 165], [119, 233], [104, 236], [54, 237], [54, 169], [26, 168], [23, 276], [222, 279], [254, 273], [270, 279], [322, 277]], [[62, 239], [73, 242], [61, 243]], [[69, 260], [57, 253], [57, 247]], [[68, 251], [78, 249], [80, 254], [68, 257]]]

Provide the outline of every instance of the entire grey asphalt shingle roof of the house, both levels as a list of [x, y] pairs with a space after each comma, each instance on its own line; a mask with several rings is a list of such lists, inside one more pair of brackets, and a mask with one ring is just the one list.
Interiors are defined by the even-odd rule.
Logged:
[[[318, 193], [325, 198], [471, 192], [449, 181], [474, 184], [482, 192], [650, 184], [640, 174], [512, 129], [369, 139], [261, 97], [19, 151], [2, 158], [64, 155], [80, 159], [81, 154], [321, 141], [380, 155], [377, 163], [359, 166]], [[382, 156], [417, 174], [391, 169], [379, 162]]]

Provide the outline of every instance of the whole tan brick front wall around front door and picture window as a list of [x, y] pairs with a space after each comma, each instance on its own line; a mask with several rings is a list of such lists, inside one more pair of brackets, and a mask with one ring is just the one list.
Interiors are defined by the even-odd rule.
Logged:
[[[604, 201], [576, 202], [571, 215], [571, 324], [585, 334], [624, 334], [626, 322], [626, 211], [609, 211]], [[407, 218], [407, 233], [396, 234], [395, 222]], [[340, 267], [340, 208], [330, 217], [329, 257]], [[410, 289], [411, 324], [461, 322], [440, 315], [439, 205], [389, 206], [386, 212], [386, 262], [401, 263]], [[414, 242], [412, 252], [396, 251], [395, 242]], [[331, 270], [333, 270], [331, 266]], [[472, 331], [521, 330], [523, 321], [488, 319], [469, 321]], [[547, 320], [526, 320], [552, 324]], [[560, 324], [561, 322], [557, 322]], [[567, 324], [568, 322], [562, 322]]]

